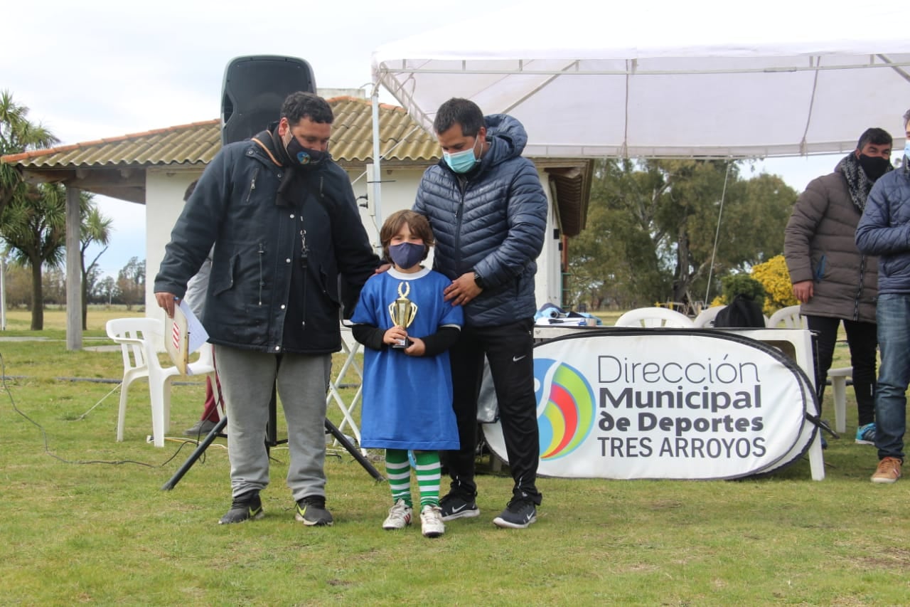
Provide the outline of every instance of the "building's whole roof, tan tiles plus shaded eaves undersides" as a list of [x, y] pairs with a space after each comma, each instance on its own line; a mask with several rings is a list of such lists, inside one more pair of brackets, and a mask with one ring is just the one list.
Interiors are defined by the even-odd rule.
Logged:
[[[373, 157], [372, 105], [367, 99], [328, 99], [335, 121], [329, 149], [346, 169], [360, 169]], [[429, 166], [440, 159], [439, 142], [421, 129], [404, 108], [379, 105], [383, 167]], [[0, 158], [17, 165], [27, 180], [65, 182], [81, 190], [123, 201], [145, 203], [150, 167], [201, 169], [221, 149], [221, 120], [147, 130]], [[534, 159], [556, 185], [562, 233], [584, 228], [593, 164], [586, 159]]]

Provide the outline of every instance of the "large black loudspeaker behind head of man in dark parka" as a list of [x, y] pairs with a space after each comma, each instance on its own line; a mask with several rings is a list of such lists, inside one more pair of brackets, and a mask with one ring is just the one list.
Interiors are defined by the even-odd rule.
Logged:
[[231, 59], [221, 85], [221, 145], [242, 141], [278, 120], [281, 104], [298, 90], [316, 92], [313, 68], [297, 57]]

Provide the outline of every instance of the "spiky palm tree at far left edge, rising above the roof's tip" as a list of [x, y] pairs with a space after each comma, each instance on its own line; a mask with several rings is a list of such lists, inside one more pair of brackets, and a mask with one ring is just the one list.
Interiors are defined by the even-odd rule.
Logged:
[[[15, 103], [12, 93], [0, 93], [0, 156], [48, 148], [58, 141], [49, 130], [28, 120], [28, 108]], [[16, 196], [25, 196], [25, 190], [15, 167], [0, 162], [0, 216]]]

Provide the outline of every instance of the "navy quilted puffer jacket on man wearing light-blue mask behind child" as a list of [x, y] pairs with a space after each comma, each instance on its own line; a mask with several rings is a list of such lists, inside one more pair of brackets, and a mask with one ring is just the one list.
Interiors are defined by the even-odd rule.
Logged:
[[547, 226], [547, 197], [537, 169], [521, 158], [528, 135], [504, 114], [484, 118], [490, 148], [480, 166], [459, 175], [440, 161], [420, 180], [414, 211], [436, 237], [433, 269], [455, 279], [474, 271], [484, 289], [464, 307], [467, 326], [531, 318], [534, 274]]

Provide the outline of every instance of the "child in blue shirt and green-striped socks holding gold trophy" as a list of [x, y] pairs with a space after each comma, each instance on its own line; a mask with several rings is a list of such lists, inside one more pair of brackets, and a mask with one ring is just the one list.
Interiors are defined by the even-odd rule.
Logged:
[[364, 355], [360, 445], [386, 449], [393, 506], [383, 529], [410, 525], [414, 451], [424, 536], [445, 533], [440, 512], [440, 449], [459, 448], [446, 350], [458, 339], [461, 307], [443, 300], [451, 281], [424, 268], [433, 244], [430, 222], [414, 211], [392, 213], [379, 231], [393, 267], [369, 279], [351, 322]]

